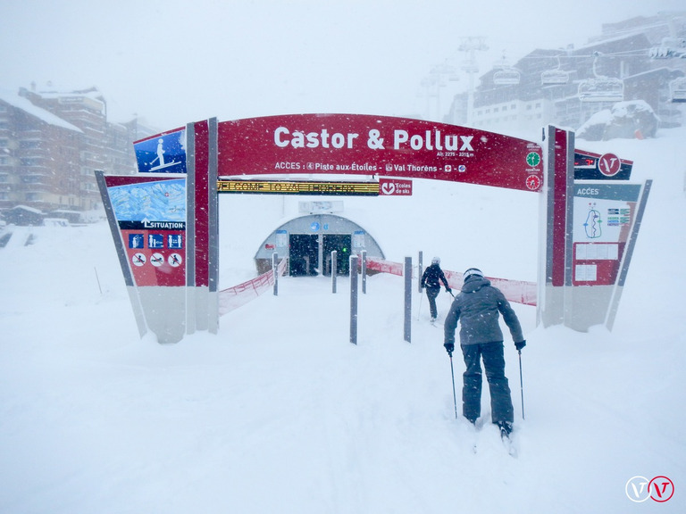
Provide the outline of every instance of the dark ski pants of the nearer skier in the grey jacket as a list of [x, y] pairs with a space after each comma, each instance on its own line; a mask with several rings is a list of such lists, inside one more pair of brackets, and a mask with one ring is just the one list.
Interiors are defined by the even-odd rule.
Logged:
[[490, 415], [493, 423], [512, 423], [515, 419], [510, 386], [505, 376], [503, 342], [461, 346], [464, 364], [462, 413], [472, 423], [481, 416], [481, 360], [489, 381]]

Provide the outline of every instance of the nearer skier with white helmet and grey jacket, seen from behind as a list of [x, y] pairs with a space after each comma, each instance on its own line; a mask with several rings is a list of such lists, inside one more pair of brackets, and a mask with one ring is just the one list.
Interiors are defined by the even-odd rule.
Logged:
[[491, 420], [500, 435], [509, 436], [514, 421], [512, 396], [505, 376], [503, 332], [498, 313], [503, 315], [517, 351], [526, 345], [522, 327], [505, 295], [483, 277], [481, 270], [464, 271], [464, 285], [450, 306], [445, 322], [444, 346], [449, 355], [455, 349], [455, 329], [460, 321], [460, 346], [466, 370], [463, 375], [462, 412], [475, 423], [481, 415], [481, 359], [489, 381]]

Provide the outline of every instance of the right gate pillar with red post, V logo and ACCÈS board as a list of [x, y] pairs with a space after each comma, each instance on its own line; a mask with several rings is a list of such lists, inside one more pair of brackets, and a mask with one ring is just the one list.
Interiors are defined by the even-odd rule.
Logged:
[[614, 153], [574, 150], [572, 132], [549, 127], [547, 140], [538, 318], [612, 328], [649, 181], [627, 183], [632, 162]]

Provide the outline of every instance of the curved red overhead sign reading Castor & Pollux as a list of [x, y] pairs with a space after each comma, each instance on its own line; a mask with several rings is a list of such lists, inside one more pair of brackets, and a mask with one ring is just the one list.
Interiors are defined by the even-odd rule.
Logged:
[[219, 175], [356, 174], [540, 190], [540, 145], [483, 130], [362, 114], [219, 123]]

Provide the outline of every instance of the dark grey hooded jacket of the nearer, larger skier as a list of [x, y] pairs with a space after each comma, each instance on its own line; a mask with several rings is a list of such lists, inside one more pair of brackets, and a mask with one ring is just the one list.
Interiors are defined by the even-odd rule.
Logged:
[[462, 345], [503, 341], [503, 332], [498, 325], [498, 312], [503, 315], [513, 341], [522, 342], [522, 327], [505, 295], [497, 287], [491, 286], [486, 278], [468, 278], [450, 306], [444, 325], [445, 343], [455, 344], [458, 319]]

